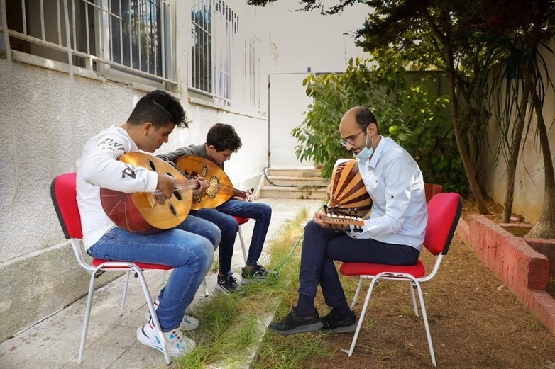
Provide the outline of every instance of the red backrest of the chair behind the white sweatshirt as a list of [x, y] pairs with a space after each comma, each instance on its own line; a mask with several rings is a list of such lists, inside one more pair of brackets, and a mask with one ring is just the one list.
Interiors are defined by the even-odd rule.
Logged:
[[50, 196], [66, 239], [83, 238], [81, 216], [77, 207], [77, 173], [60, 174], [50, 185]]

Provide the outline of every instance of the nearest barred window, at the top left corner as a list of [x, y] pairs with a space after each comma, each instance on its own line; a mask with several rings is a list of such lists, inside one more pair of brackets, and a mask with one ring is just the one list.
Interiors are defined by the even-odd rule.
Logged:
[[[173, 84], [169, 0], [7, 0], [10, 46], [98, 74]], [[167, 86], [166, 86], [167, 87]]]

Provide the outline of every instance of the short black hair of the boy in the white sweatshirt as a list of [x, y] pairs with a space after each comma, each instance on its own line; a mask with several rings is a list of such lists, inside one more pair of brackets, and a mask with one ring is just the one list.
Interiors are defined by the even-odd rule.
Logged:
[[188, 127], [187, 113], [177, 98], [166, 91], [155, 90], [138, 101], [127, 120], [131, 125], [150, 122], [155, 129], [174, 123], [177, 127]]

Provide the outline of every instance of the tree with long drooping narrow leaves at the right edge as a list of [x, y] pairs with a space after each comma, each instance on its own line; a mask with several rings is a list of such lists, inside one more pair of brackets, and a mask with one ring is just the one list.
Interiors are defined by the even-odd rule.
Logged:
[[[546, 42], [555, 35], [554, 1], [503, 1], [490, 6], [485, 23], [475, 39], [489, 45], [485, 67], [480, 76], [483, 101], [492, 101], [502, 137], [502, 152], [507, 161], [507, 191], [503, 220], [509, 222], [514, 198], [515, 172], [521, 150], [522, 134], [534, 130], [539, 137], [544, 161], [544, 206], [528, 237], [555, 237], [555, 176], [544, 117], [546, 91], [554, 91], [544, 55], [554, 55]], [[509, 10], [510, 9], [510, 10]], [[515, 17], [514, 14], [519, 14]], [[503, 93], [500, 93], [502, 91]], [[551, 122], [552, 124], [553, 122]]]

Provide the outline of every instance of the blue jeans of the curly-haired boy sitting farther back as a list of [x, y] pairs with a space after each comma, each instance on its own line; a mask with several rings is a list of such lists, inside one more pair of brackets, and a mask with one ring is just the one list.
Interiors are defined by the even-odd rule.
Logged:
[[255, 266], [258, 263], [262, 248], [270, 227], [272, 208], [265, 203], [248, 203], [241, 200], [227, 200], [214, 209], [199, 209], [192, 212], [195, 217], [214, 223], [221, 230], [221, 242], [219, 249], [220, 273], [231, 274], [231, 257], [233, 256], [233, 245], [239, 229], [233, 215], [255, 220], [251, 245], [248, 247], [247, 265]]

